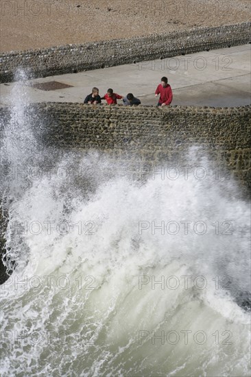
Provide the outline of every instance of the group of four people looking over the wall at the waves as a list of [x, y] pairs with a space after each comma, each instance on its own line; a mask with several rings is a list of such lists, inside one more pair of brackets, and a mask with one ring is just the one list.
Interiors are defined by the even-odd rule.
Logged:
[[[157, 86], [155, 90], [155, 97], [158, 97], [158, 105], [157, 106], [167, 106], [171, 104], [171, 101], [173, 100], [173, 93], [171, 90], [171, 86], [168, 84], [167, 77], [161, 78], [161, 83]], [[123, 97], [123, 95], [118, 95], [117, 93], [114, 93], [111, 88], [107, 90], [107, 93], [100, 97], [99, 95], [99, 89], [94, 87], [92, 90], [92, 93], [90, 95], [87, 95], [84, 99], [84, 104], [90, 104], [90, 105], [97, 105], [101, 104], [101, 100], [106, 99], [106, 102], [108, 105], [116, 105], [117, 99], [122, 99], [123, 105], [125, 106], [138, 106], [141, 104], [141, 100], [139, 98], [134, 97], [132, 93], [128, 93], [126, 97]]]

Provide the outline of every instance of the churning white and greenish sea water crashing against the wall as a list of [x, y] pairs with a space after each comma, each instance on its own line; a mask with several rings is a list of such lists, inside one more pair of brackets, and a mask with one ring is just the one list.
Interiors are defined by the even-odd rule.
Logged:
[[1, 375], [250, 376], [241, 189], [193, 148], [177, 179], [164, 161], [132, 180], [98, 151], [45, 147], [23, 88], [1, 141], [16, 263], [0, 289]]

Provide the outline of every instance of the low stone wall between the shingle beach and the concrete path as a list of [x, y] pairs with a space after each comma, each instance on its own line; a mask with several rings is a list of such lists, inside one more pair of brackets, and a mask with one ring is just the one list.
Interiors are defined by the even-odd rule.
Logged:
[[210, 49], [245, 45], [251, 42], [251, 23], [200, 27], [182, 32], [104, 40], [47, 49], [10, 51], [0, 55], [0, 82], [77, 73], [93, 69], [170, 58]]

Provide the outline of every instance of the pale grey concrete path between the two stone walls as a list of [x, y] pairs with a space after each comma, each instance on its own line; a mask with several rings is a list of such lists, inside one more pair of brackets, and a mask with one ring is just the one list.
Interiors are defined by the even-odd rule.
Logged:
[[[27, 102], [82, 102], [91, 93], [93, 86], [99, 88], [101, 96], [108, 88], [113, 88], [120, 95], [133, 93], [141, 99], [143, 105], [155, 105], [156, 86], [161, 77], [167, 76], [174, 91], [172, 105], [243, 106], [250, 104], [250, 62], [251, 45], [242, 45], [176, 58], [1, 84], [0, 105], [13, 104], [11, 92], [16, 98], [19, 95], [25, 96]], [[32, 83], [51, 81], [72, 87], [45, 91], [30, 86]]]

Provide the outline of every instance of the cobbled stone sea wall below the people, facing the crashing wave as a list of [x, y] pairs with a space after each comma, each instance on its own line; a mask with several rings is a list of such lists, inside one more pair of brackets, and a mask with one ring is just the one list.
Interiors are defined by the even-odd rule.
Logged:
[[[0, 108], [2, 119], [10, 108]], [[41, 143], [104, 152], [131, 165], [189, 165], [189, 147], [200, 147], [215, 167], [251, 186], [251, 106], [89, 106], [43, 103], [25, 107], [27, 124]]]

